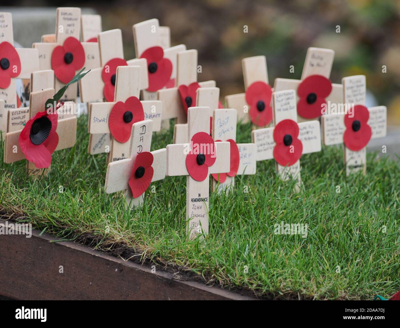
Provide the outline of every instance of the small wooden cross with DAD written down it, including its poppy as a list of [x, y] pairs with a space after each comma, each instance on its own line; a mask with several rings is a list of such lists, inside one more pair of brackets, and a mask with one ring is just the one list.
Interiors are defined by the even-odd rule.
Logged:
[[[151, 120], [134, 123], [130, 137], [129, 157], [108, 163], [104, 189], [106, 193], [124, 190], [128, 208], [141, 205], [144, 191], [150, 182], [162, 180], [165, 177], [166, 149], [150, 152], [152, 127]], [[150, 159], [148, 159], [149, 156]], [[148, 176], [149, 173], [150, 176]]]

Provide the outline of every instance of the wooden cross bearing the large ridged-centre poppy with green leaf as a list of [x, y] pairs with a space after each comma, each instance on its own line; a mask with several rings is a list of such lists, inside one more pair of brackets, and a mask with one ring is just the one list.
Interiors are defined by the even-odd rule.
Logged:
[[[41, 163], [40, 167], [37, 167], [35, 163], [27, 161], [28, 175], [34, 177], [40, 177], [44, 170], [50, 168], [53, 151], [73, 147], [76, 141], [76, 117], [54, 122], [51, 118], [54, 114], [45, 114], [48, 110], [45, 105], [46, 101], [53, 96], [54, 89], [52, 88], [31, 93], [29, 97], [30, 120], [24, 129], [7, 133], [5, 138], [4, 162], [13, 163], [25, 159], [26, 156], [21, 149], [24, 147], [29, 150], [29, 155], [35, 159], [35, 163]], [[44, 115], [40, 115], [40, 113]], [[35, 117], [36, 119], [33, 121]], [[56, 129], [54, 129], [55, 123], [57, 123]], [[47, 158], [47, 164], [44, 164], [42, 160], [38, 161], [44, 157]]]

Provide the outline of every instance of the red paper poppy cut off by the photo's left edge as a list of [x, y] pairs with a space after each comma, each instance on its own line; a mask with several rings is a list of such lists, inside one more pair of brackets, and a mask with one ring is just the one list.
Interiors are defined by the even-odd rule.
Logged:
[[10, 86], [11, 78], [17, 77], [21, 72], [21, 61], [17, 50], [10, 42], [0, 43], [0, 88]]

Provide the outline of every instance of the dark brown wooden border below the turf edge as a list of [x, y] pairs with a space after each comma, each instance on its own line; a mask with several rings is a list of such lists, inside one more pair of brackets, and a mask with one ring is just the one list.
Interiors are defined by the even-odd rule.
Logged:
[[[3, 221], [6, 229], [14, 222]], [[0, 235], [0, 295], [15, 300], [250, 300], [217, 286], [174, 279], [32, 229]], [[63, 266], [64, 273], [59, 273]]]

